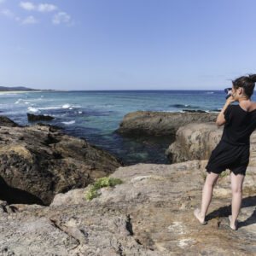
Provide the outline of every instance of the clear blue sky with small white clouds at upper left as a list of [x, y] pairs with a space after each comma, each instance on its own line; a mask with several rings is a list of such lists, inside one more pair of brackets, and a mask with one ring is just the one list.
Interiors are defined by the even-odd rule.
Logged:
[[0, 0], [0, 86], [223, 90], [256, 73], [254, 0]]

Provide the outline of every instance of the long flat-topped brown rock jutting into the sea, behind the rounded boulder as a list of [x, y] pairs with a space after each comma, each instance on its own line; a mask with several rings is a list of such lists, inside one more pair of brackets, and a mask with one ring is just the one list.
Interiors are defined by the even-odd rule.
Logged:
[[206, 123], [216, 121], [218, 113], [180, 113], [137, 111], [125, 114], [120, 122], [120, 135], [138, 136], [172, 136], [180, 126], [189, 123]]

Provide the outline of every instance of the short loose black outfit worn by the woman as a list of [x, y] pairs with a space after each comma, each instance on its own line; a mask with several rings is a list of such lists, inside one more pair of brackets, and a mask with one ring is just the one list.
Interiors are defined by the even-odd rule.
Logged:
[[246, 175], [250, 157], [250, 136], [256, 129], [256, 109], [243, 110], [240, 105], [229, 105], [224, 111], [223, 135], [212, 150], [207, 172], [221, 173], [230, 169], [235, 174]]

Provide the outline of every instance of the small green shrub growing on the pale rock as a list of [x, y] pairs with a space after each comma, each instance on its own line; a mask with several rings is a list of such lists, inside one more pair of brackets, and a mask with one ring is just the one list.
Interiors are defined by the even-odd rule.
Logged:
[[85, 195], [85, 197], [91, 201], [94, 198], [98, 197], [99, 194], [97, 192], [98, 189], [101, 189], [103, 187], [114, 187], [117, 184], [120, 183], [125, 183], [119, 178], [114, 178], [114, 177], [100, 177], [97, 178], [96, 181], [93, 184], [90, 184], [88, 186], [88, 191]]

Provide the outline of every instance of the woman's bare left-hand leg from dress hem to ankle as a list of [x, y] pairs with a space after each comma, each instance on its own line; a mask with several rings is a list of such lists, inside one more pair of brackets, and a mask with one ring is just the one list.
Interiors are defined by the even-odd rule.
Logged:
[[212, 190], [215, 183], [218, 180], [218, 173], [207, 172], [206, 182], [202, 190], [202, 199], [201, 199], [201, 212], [199, 214], [200, 221], [203, 222], [207, 215], [207, 210], [212, 201]]

